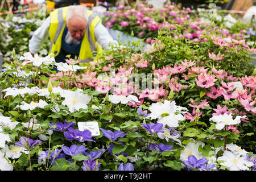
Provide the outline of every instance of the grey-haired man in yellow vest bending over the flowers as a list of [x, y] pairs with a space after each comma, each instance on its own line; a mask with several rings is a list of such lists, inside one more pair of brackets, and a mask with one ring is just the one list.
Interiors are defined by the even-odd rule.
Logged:
[[79, 57], [88, 63], [96, 51], [96, 42], [103, 49], [117, 42], [109, 35], [101, 24], [101, 19], [85, 6], [67, 6], [52, 11], [41, 27], [36, 30], [29, 42], [29, 49], [34, 54], [39, 50], [40, 43], [49, 36], [55, 61], [65, 62], [67, 55]]

